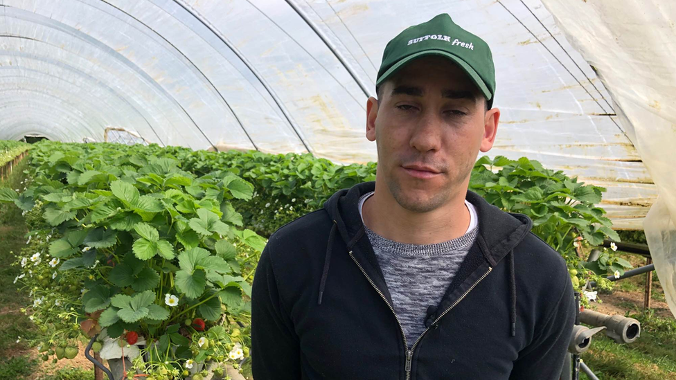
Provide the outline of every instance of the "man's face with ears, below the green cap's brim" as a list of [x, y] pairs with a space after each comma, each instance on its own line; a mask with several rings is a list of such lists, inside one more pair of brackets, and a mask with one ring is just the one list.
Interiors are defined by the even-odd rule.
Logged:
[[376, 182], [407, 210], [429, 212], [467, 190], [479, 150], [495, 139], [499, 111], [459, 66], [422, 57], [382, 84], [367, 103], [366, 137], [376, 141]]

